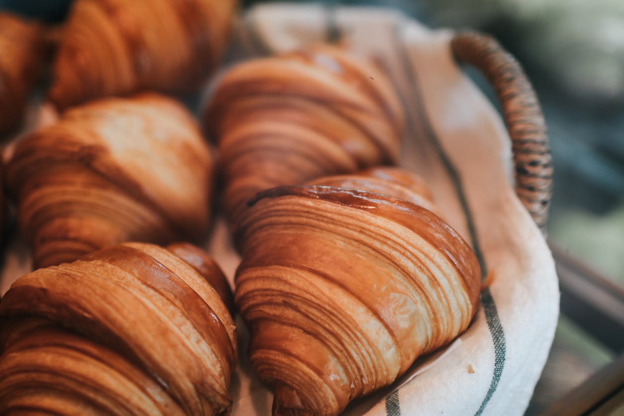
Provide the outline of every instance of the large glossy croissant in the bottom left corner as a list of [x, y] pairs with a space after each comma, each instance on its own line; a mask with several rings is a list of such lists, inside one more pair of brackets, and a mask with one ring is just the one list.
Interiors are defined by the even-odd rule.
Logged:
[[[0, 413], [229, 414], [227, 286], [190, 244], [125, 243], [17, 279], [0, 302]], [[202, 273], [200, 273], [200, 271]]]

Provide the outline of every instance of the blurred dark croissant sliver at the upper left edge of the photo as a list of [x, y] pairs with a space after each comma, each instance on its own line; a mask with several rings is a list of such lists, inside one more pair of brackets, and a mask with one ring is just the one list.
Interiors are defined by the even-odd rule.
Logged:
[[41, 26], [0, 13], [0, 135], [21, 123], [44, 49]]

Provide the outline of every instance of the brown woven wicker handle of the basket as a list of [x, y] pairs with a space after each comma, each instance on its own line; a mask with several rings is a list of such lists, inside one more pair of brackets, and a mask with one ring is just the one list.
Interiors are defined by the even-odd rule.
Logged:
[[533, 87], [518, 61], [490, 36], [460, 32], [451, 47], [457, 60], [474, 65], [494, 87], [512, 140], [515, 191], [535, 223], [544, 228], [553, 167], [544, 114]]

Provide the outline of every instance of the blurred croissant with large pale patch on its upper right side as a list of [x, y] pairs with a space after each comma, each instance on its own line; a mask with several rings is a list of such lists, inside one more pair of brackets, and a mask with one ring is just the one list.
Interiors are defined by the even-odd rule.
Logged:
[[124, 241], [197, 241], [208, 226], [207, 144], [156, 94], [67, 111], [17, 143], [6, 177], [36, 268]]

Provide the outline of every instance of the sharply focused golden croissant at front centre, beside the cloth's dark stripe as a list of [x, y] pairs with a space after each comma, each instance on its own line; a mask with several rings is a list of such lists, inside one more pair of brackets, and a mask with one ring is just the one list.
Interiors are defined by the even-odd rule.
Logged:
[[[422, 181], [384, 168], [258, 194], [236, 237], [236, 306], [275, 415], [336, 415], [444, 346], [480, 268]], [[359, 189], [353, 189], [357, 186]]]

